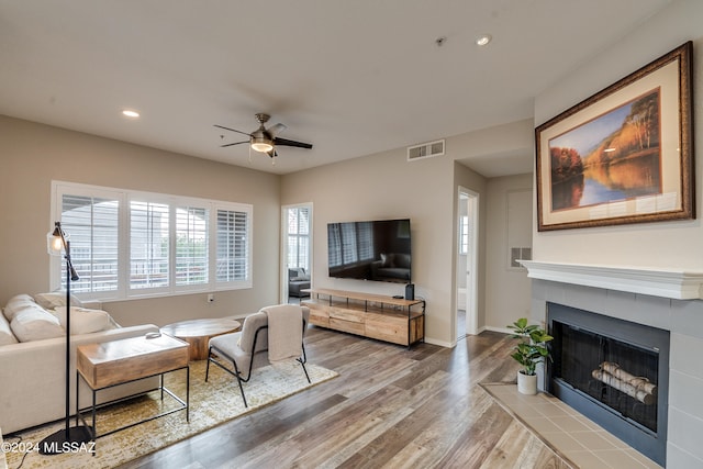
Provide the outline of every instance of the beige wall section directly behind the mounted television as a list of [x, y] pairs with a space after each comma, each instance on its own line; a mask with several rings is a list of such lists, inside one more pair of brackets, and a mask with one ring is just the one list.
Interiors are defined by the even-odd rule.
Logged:
[[412, 280], [427, 301], [428, 342], [451, 344], [453, 161], [406, 161], [405, 149], [355, 158], [282, 180], [282, 204], [313, 203], [312, 284], [320, 288], [404, 294], [402, 283], [327, 276], [327, 223], [411, 219]]

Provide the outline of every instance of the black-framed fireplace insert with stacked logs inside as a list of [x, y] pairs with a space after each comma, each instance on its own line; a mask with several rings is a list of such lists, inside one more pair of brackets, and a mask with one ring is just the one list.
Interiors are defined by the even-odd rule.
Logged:
[[547, 302], [549, 392], [666, 464], [669, 332]]

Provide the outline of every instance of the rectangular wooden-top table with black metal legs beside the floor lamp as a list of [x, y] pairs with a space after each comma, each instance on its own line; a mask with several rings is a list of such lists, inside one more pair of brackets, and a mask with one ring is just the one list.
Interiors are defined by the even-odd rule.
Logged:
[[[186, 370], [185, 401], [164, 387], [164, 375], [180, 369]], [[183, 340], [161, 335], [156, 338], [142, 336], [81, 345], [76, 349], [76, 409], [79, 409], [79, 379], [82, 378], [92, 390], [92, 426], [90, 428], [93, 440], [100, 436], [110, 435], [181, 410], [186, 411], [186, 421], [189, 421], [190, 368], [188, 367], [188, 344]], [[96, 428], [96, 410], [98, 409], [96, 395], [98, 391], [154, 376], [160, 376], [157, 389], [161, 391], [161, 399], [166, 392], [181, 405], [99, 435]], [[101, 404], [101, 406], [108, 404], [110, 402]], [[76, 414], [77, 423], [79, 418], [85, 423], [80, 411]]]

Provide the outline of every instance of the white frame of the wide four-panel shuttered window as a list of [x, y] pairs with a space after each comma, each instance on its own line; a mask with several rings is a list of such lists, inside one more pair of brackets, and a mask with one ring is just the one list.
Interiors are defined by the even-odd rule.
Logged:
[[[192, 198], [185, 196], [165, 194], [157, 192], [136, 191], [102, 186], [82, 185], [67, 181], [52, 181], [51, 226], [60, 220], [64, 196], [83, 196], [113, 198], [119, 202], [118, 213], [118, 288], [113, 291], [91, 291], [77, 293], [80, 299], [100, 301], [121, 301], [133, 299], [159, 298], [166, 295], [191, 294], [194, 292], [242, 290], [253, 288], [253, 225], [254, 208], [252, 204]], [[149, 203], [166, 203], [169, 210], [169, 284], [167, 287], [134, 289], [130, 284], [131, 271], [131, 203], [132, 201], [147, 201]], [[208, 280], [197, 284], [177, 284], [176, 282], [176, 213], [179, 208], [203, 208], [208, 213]], [[246, 214], [244, 227], [245, 236], [245, 268], [244, 279], [217, 281], [217, 211], [242, 212]], [[70, 234], [70, 232], [68, 233]], [[64, 271], [63, 256], [52, 256], [49, 260], [49, 288], [52, 291], [62, 289]]]

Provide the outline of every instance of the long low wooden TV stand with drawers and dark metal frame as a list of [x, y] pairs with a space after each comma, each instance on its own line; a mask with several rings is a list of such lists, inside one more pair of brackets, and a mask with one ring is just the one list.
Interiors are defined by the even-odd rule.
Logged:
[[[310, 324], [393, 344], [425, 339], [425, 301], [356, 291], [311, 289]], [[417, 306], [417, 308], [415, 308]]]

